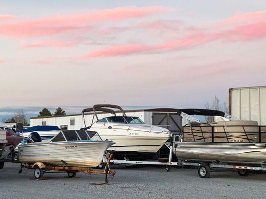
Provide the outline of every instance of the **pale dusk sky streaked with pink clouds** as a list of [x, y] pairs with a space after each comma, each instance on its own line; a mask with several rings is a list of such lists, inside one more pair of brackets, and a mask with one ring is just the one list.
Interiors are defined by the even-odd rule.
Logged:
[[200, 108], [266, 85], [266, 1], [2, 1], [0, 44], [0, 107]]

